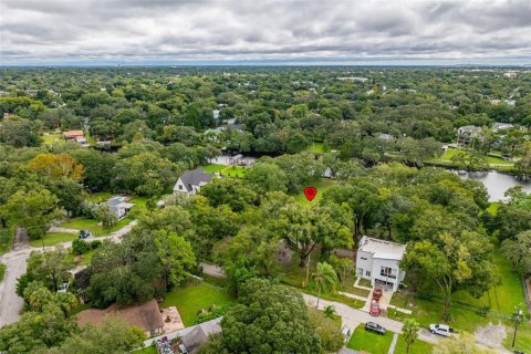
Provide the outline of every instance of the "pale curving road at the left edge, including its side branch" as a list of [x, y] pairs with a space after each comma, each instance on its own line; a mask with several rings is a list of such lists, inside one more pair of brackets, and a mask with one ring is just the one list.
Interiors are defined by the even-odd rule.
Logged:
[[[95, 240], [106, 240], [110, 239], [114, 242], [119, 242], [121, 238], [128, 233], [135, 226], [137, 221], [134, 220], [122, 229], [112, 232], [107, 237], [94, 238]], [[75, 233], [79, 231], [76, 230]], [[91, 240], [93, 238], [90, 238]], [[55, 247], [61, 246], [64, 248], [71, 248], [72, 242], [63, 242], [55, 246], [45, 247], [44, 249], [51, 250]], [[22, 311], [23, 299], [18, 296], [14, 292], [17, 289], [17, 278], [25, 273], [25, 266], [30, 253], [35, 250], [42, 250], [42, 248], [32, 248], [27, 246], [15, 251], [10, 251], [3, 256], [0, 256], [0, 262], [4, 263], [8, 268], [3, 281], [0, 283], [0, 327], [17, 322], [20, 317], [20, 312]]]

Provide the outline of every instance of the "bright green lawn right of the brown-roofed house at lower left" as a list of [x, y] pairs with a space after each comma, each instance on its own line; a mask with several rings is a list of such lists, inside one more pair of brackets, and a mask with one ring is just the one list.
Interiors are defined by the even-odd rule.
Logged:
[[211, 304], [221, 306], [232, 300], [223, 288], [212, 285], [205, 281], [190, 281], [186, 285], [168, 292], [160, 306], [177, 306], [183, 322], [186, 326], [189, 326], [197, 317], [199, 310], [208, 310]]

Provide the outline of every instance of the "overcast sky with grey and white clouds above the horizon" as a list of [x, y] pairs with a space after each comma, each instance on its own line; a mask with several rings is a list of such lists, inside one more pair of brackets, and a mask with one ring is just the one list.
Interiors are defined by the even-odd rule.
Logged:
[[531, 0], [0, 0], [0, 64], [531, 63]]

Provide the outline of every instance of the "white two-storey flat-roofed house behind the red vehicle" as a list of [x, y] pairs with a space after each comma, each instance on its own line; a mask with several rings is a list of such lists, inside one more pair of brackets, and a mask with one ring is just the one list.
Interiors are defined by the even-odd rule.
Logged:
[[356, 277], [396, 291], [406, 274], [399, 267], [405, 252], [406, 244], [364, 236], [356, 253]]

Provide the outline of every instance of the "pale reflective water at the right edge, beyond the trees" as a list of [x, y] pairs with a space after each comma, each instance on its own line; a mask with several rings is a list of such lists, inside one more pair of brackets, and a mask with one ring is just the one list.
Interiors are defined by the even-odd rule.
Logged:
[[[455, 171], [457, 174], [457, 171]], [[500, 201], [506, 199], [506, 191], [514, 186], [522, 186], [527, 192], [531, 192], [531, 183], [516, 179], [511, 175], [490, 171], [471, 171], [465, 175], [459, 175], [462, 179], [475, 179], [481, 181], [489, 192], [489, 201]]]

